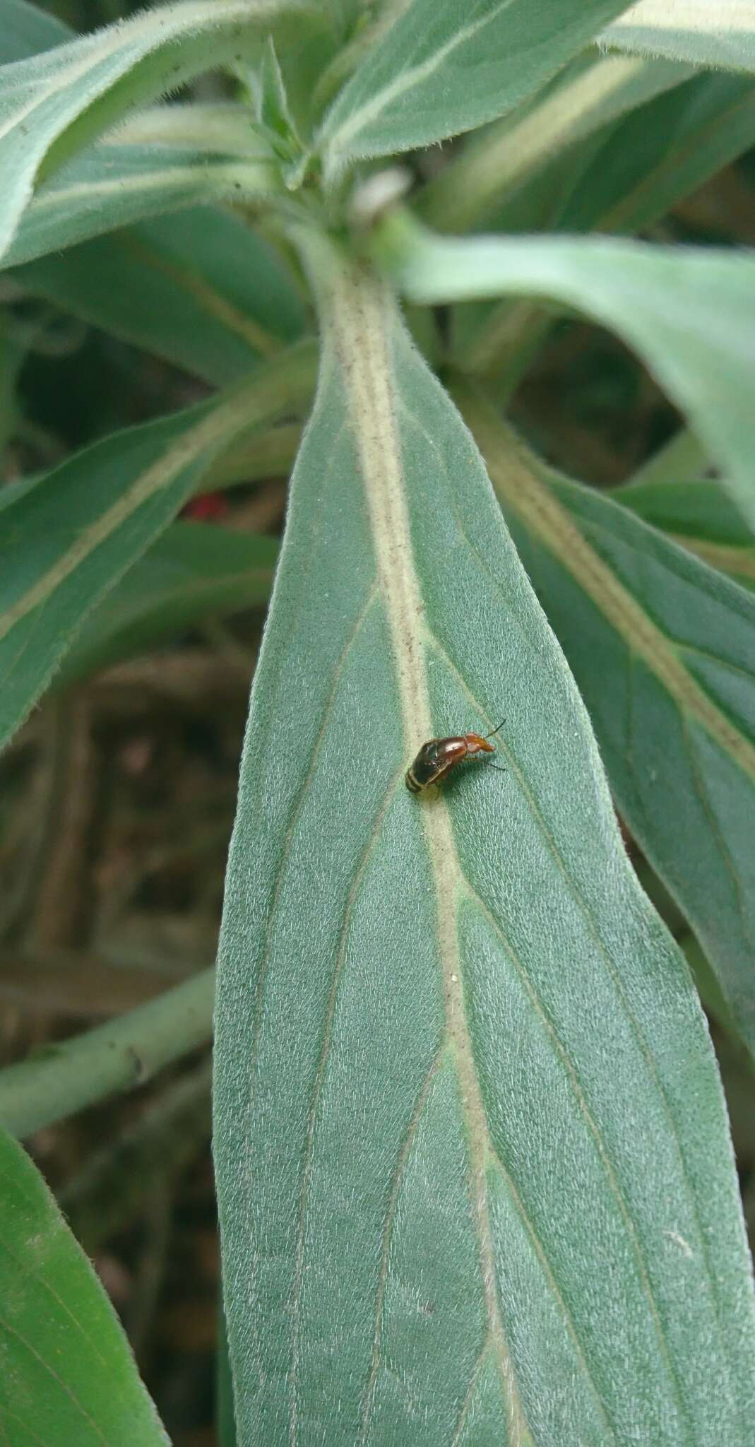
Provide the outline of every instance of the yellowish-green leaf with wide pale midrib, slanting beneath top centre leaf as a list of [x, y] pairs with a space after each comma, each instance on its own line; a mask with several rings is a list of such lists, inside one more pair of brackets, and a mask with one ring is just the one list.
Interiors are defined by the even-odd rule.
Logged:
[[418, 197], [419, 216], [441, 232], [469, 230], [554, 156], [690, 75], [670, 61], [577, 56], [531, 106], [495, 122], [443, 168]]

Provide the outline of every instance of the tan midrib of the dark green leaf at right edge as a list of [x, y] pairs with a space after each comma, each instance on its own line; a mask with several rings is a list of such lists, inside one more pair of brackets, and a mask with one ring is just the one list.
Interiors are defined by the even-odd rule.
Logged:
[[681, 713], [693, 718], [755, 780], [755, 745], [691, 677], [665, 634], [636, 602], [616, 573], [594, 551], [567, 509], [526, 464], [522, 449], [502, 421], [467, 398], [464, 412], [480, 440], [490, 480], [511, 508], [599, 608], [629, 650], [642, 660]]

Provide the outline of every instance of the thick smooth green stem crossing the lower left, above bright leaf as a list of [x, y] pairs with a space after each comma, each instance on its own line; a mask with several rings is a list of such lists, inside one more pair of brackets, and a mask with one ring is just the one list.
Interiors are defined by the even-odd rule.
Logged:
[[107, 1024], [9, 1065], [0, 1071], [0, 1124], [23, 1139], [143, 1085], [210, 1039], [214, 987], [214, 968], [202, 969]]

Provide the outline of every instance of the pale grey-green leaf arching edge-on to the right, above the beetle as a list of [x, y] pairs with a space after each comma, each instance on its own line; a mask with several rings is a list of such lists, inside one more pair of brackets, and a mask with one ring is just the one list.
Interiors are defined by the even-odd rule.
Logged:
[[451, 240], [399, 214], [383, 223], [376, 250], [412, 301], [529, 295], [610, 327], [687, 414], [755, 522], [752, 256], [603, 239]]

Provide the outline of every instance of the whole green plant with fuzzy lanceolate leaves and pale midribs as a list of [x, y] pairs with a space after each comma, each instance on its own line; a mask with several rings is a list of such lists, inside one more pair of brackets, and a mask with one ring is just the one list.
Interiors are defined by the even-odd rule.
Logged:
[[[6, 6], [12, 284], [216, 391], [1, 492], [3, 738], [166, 608], [263, 596], [272, 544], [174, 519], [297, 449], [216, 997], [236, 1440], [752, 1443], [723, 1092], [612, 800], [755, 1053], [755, 260], [670, 221], [755, 143], [755, 25], [735, 0], [182, 0], [67, 41]], [[227, 98], [156, 104], [208, 68]], [[691, 428], [615, 496], [506, 415], [574, 314]], [[409, 796], [424, 739], [500, 716], [506, 774]], [[0, 1074], [0, 1119], [188, 1051], [211, 991], [181, 990], [169, 1042], [162, 998], [116, 1058], [95, 1035]], [[55, 1299], [91, 1336], [81, 1281]], [[124, 1344], [65, 1366], [97, 1391], [56, 1417], [78, 1386], [9, 1295], [7, 1441], [161, 1440]], [[139, 1408], [111, 1422], [116, 1370]]]

